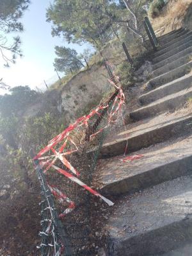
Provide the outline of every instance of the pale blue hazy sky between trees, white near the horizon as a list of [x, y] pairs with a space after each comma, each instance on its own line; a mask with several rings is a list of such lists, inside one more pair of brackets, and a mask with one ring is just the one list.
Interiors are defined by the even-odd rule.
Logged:
[[[21, 21], [24, 32], [19, 33], [22, 39], [24, 57], [18, 58], [16, 64], [4, 68], [0, 59], [0, 78], [10, 86], [44, 87], [44, 79], [48, 84], [56, 80], [52, 62], [56, 57], [54, 46], [68, 46], [59, 37], [52, 37], [51, 24], [46, 22], [45, 13], [49, 7], [48, 0], [31, 0]], [[71, 47], [71, 46], [70, 46]], [[72, 46], [82, 52], [87, 46]], [[2, 93], [2, 91], [0, 92]]]

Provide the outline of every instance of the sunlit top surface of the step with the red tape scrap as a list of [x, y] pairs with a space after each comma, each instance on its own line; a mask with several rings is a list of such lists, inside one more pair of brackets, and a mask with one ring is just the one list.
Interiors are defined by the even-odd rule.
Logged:
[[[189, 127], [187, 128], [189, 129]], [[115, 192], [115, 186], [121, 186], [119, 181], [132, 178], [133, 176], [137, 176], [138, 179], [141, 179], [140, 174], [146, 173], [147, 175], [147, 172], [151, 172], [150, 176], [156, 175], [152, 174], [153, 169], [158, 167], [163, 168], [163, 166], [168, 163], [174, 163], [177, 160], [182, 160], [189, 156], [191, 156], [192, 161], [191, 145], [192, 135], [189, 134], [188, 136], [172, 139], [168, 142], [158, 143], [146, 149], [134, 152], [134, 154], [129, 154], [129, 156], [137, 154], [143, 155], [143, 157], [138, 160], [123, 162], [121, 160], [125, 158], [124, 155], [115, 156], [107, 160], [99, 160], [96, 171], [96, 173], [99, 174], [97, 174], [99, 188], [106, 191], [109, 186], [113, 186], [110, 190]], [[150, 179], [150, 177], [147, 179]], [[143, 184], [144, 183], [145, 178], [143, 178]], [[130, 189], [137, 188], [137, 185], [138, 182], [136, 182], [135, 187], [134, 184], [132, 184]]]

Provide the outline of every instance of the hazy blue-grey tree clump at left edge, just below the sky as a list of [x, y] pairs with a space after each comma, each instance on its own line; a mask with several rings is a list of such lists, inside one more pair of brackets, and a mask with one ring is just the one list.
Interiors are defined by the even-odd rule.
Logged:
[[38, 93], [29, 86], [17, 86], [10, 89], [11, 94], [0, 96], [0, 113], [2, 116], [19, 116], [19, 112], [36, 100]]

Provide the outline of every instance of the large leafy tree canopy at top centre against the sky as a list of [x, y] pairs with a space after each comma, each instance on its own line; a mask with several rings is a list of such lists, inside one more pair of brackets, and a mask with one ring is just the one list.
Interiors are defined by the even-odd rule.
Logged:
[[101, 33], [110, 28], [111, 17], [118, 10], [116, 6], [110, 0], [54, 0], [47, 10], [47, 21], [54, 24], [52, 35], [63, 35], [68, 42], [86, 41], [99, 46]]

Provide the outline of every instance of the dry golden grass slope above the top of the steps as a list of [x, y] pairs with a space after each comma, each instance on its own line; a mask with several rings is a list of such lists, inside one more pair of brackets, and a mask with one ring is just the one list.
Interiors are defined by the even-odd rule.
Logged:
[[191, 3], [192, 0], [170, 0], [161, 15], [152, 19], [154, 30], [162, 35], [183, 26], [184, 17]]

